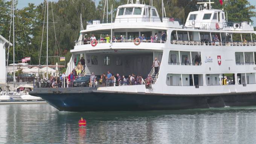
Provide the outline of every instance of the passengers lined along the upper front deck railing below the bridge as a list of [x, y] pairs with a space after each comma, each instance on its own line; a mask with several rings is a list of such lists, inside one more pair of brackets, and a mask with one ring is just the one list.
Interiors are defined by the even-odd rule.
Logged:
[[[99, 41], [101, 42], [106, 42], [106, 43], [110, 43], [110, 42], [124, 42], [125, 39], [128, 38], [124, 38], [123, 35], [120, 35], [120, 37], [116, 38], [116, 36], [112, 36], [112, 38], [110, 38], [110, 36], [108, 36], [108, 34], [105, 37], [101, 37], [99, 39]], [[158, 38], [158, 34], [155, 33], [154, 36], [150, 36], [149, 38], [146, 38], [144, 34], [142, 34], [139, 37], [133, 38], [134, 39], [139, 39], [141, 42], [145, 42], [145, 41], [149, 41], [149, 42], [157, 42], [157, 41], [166, 41], [166, 33], [162, 32], [161, 33], [161, 38]], [[90, 44], [92, 41], [95, 41], [96, 37], [94, 35], [91, 35], [91, 37], [87, 37], [87, 34], [84, 35], [84, 40], [83, 40], [83, 44]]]

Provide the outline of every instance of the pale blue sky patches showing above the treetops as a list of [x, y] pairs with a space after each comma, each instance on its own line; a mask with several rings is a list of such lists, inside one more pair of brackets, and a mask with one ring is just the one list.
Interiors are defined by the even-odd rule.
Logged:
[[[35, 5], [38, 5], [40, 3], [42, 3], [44, 0], [18, 0], [18, 9], [24, 8], [25, 6], [27, 6], [27, 3], [35, 3]], [[56, 2], [58, 0], [50, 0], [53, 2]], [[94, 0], [97, 4], [99, 2], [99, 0]], [[251, 3], [251, 5], [256, 6], [256, 0], [249, 0], [249, 2]], [[96, 5], [97, 5], [96, 4]], [[256, 11], [256, 9], [254, 9], [254, 11]], [[256, 17], [253, 18], [254, 21], [254, 26], [256, 26]]]

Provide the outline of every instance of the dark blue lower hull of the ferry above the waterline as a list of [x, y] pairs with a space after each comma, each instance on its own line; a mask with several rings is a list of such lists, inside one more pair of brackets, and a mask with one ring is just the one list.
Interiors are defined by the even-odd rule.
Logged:
[[30, 94], [41, 97], [59, 111], [75, 112], [175, 110], [256, 105], [256, 92], [225, 95], [161, 95], [104, 92], [85, 88], [47, 88], [45, 90], [35, 89]]

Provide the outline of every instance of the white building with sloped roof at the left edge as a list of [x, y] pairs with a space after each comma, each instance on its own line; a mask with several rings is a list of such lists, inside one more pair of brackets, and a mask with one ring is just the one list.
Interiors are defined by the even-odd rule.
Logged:
[[[2, 35], [0, 35], [0, 84], [6, 83], [6, 57], [5, 57], [5, 49], [8, 48], [9, 41], [5, 39]], [[10, 46], [12, 44], [10, 43]]]

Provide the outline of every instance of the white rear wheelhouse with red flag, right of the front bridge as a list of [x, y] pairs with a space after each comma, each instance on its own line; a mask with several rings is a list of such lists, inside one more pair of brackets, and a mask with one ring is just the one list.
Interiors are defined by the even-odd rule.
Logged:
[[225, 16], [224, 10], [212, 9], [211, 4], [214, 2], [202, 2], [198, 11], [190, 12], [185, 27], [192, 29], [204, 30], [251, 30], [253, 26], [248, 22], [229, 23]]

